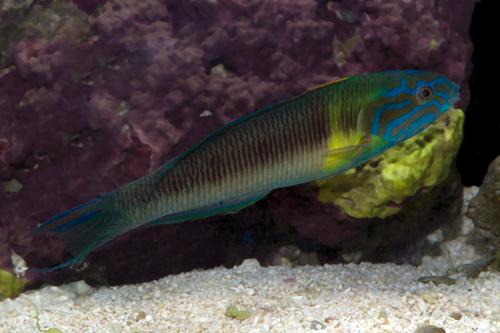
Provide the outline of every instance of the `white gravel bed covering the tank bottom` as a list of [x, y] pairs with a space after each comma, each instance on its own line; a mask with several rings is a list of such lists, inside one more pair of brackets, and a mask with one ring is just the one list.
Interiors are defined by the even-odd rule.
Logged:
[[[247, 259], [233, 269], [193, 271], [140, 285], [45, 287], [0, 302], [0, 332], [412, 333], [431, 324], [447, 333], [499, 333], [499, 273], [462, 277], [451, 286], [417, 281], [474, 257], [464, 237], [448, 247], [452, 260], [426, 258], [420, 267], [261, 267]], [[250, 316], [227, 316], [230, 305]]]

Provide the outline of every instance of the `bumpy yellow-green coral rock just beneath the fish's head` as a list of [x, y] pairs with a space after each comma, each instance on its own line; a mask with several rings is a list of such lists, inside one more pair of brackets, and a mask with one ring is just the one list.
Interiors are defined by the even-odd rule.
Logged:
[[453, 109], [363, 167], [317, 181], [319, 200], [333, 203], [355, 218], [398, 213], [405, 198], [448, 177], [462, 139], [463, 121], [463, 111]]

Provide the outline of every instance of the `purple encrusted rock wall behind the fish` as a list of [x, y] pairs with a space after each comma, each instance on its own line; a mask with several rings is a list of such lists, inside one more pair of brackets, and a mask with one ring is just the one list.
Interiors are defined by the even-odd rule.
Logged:
[[[473, 4], [59, 0], [2, 9], [0, 266], [9, 266], [11, 248], [30, 265], [61, 260], [61, 243], [32, 238], [37, 223], [143, 175], [231, 119], [326, 80], [421, 68], [460, 83], [466, 104]], [[333, 223], [343, 219], [335, 207], [307, 210], [318, 206], [308, 191], [316, 190], [278, 191], [219, 223], [137, 231], [90, 262], [106, 266], [98, 275], [113, 282], [231, 263], [238, 256], [228, 248], [255, 244], [242, 230], [261, 230], [255, 221], [271, 216], [280, 230], [279, 221], [307, 216], [310, 226], [298, 230], [318, 228], [305, 233], [314, 239], [326, 237], [324, 228], [338, 231], [328, 244], [353, 233]], [[248, 242], [238, 243], [240, 235]], [[78, 273], [40, 278], [65, 274]]]

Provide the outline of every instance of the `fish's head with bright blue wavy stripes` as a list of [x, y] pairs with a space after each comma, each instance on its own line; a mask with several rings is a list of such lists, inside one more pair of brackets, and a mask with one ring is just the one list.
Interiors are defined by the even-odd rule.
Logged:
[[435, 122], [460, 98], [460, 86], [425, 71], [381, 74], [371, 117], [371, 134], [389, 142], [404, 141]]

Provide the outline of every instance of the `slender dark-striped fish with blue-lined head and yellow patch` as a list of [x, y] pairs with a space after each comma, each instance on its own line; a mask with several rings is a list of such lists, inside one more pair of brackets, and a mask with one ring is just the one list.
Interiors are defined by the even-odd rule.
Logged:
[[417, 135], [460, 87], [421, 70], [327, 82], [244, 115], [153, 172], [37, 226], [57, 233], [74, 267], [132, 229], [236, 213], [271, 191], [333, 177]]

